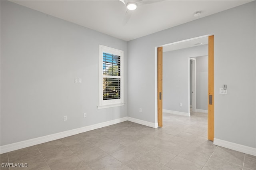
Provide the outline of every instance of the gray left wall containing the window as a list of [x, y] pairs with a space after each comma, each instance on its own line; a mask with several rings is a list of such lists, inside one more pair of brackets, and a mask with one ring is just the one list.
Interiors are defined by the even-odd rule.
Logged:
[[1, 1], [1, 145], [127, 116], [97, 109], [99, 44], [124, 50], [127, 103], [127, 42]]

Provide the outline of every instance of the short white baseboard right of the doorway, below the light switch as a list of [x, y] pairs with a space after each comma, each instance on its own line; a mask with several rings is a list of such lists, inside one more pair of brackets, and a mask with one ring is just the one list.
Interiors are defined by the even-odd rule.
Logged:
[[228, 142], [226, 140], [220, 140], [220, 139], [217, 139], [217, 138], [214, 138], [213, 144], [215, 144], [217, 146], [222, 146], [224, 148], [236, 150], [238, 152], [243, 152], [243, 153], [246, 153], [246, 154], [249, 154], [249, 155], [256, 156], [256, 148], [252, 148], [252, 147], [249, 147], [249, 146], [244, 146], [242, 144], [236, 144], [236, 143], [233, 143], [233, 142]]

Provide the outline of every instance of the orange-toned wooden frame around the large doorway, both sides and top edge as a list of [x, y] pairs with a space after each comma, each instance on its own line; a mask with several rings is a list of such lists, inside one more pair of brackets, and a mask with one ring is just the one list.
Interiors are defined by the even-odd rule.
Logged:
[[[202, 36], [205, 37], [205, 36]], [[192, 39], [190, 39], [192, 40]], [[184, 40], [189, 41], [189, 40]], [[184, 42], [181, 41], [181, 42]], [[175, 42], [178, 43], [178, 42]], [[173, 44], [173, 43], [171, 43]], [[170, 44], [168, 44], [170, 45]], [[162, 47], [162, 46], [159, 46]], [[162, 79], [158, 79], [158, 68], [162, 68], [162, 59], [159, 57], [163, 57], [161, 51], [158, 51], [159, 47], [156, 47], [156, 73], [155, 73], [155, 80], [156, 80], [156, 97], [155, 97], [155, 106], [156, 106], [156, 120], [158, 122], [158, 127], [162, 127], [162, 111], [159, 111], [158, 108], [158, 101], [159, 101], [159, 92], [162, 91]], [[159, 67], [160, 66], [160, 67]], [[160, 69], [161, 71], [161, 69]], [[161, 89], [158, 89], [160, 87]], [[163, 95], [163, 94], [162, 94]], [[209, 104], [210, 95], [212, 96], [212, 104]], [[162, 102], [162, 100], [161, 100]], [[208, 35], [208, 140], [214, 140], [214, 36]]]

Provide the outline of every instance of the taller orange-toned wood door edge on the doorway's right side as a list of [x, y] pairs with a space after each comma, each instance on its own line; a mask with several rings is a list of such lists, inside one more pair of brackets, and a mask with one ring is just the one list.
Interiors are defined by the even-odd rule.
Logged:
[[208, 37], [208, 140], [214, 140], [214, 36]]

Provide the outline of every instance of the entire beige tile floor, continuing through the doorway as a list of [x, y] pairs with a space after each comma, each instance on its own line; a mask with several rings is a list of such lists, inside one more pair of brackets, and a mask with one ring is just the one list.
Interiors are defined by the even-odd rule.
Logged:
[[126, 121], [1, 154], [1, 165], [27, 163], [24, 170], [256, 170], [256, 156], [207, 140], [205, 113], [163, 117], [163, 128]]

